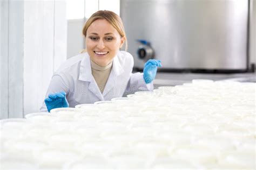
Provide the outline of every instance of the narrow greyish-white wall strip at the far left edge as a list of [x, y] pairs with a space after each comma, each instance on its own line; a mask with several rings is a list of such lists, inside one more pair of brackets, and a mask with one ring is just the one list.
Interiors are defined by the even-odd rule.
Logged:
[[22, 1], [1, 1], [1, 114], [23, 117]]

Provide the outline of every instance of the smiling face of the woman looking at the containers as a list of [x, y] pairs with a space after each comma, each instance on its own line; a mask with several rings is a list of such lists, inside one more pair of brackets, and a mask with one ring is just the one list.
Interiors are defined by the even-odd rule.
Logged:
[[97, 19], [87, 29], [86, 49], [93, 62], [107, 66], [117, 55], [125, 38], [106, 19]]

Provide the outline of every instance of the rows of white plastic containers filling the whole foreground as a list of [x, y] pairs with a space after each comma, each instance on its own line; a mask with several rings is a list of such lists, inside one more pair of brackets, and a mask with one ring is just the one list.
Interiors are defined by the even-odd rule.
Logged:
[[255, 83], [193, 80], [1, 120], [1, 169], [255, 169]]

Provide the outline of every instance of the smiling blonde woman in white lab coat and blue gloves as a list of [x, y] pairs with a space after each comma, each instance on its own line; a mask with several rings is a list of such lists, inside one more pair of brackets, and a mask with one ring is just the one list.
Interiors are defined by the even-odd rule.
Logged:
[[[83, 28], [86, 52], [65, 61], [53, 74], [41, 111], [111, 100], [139, 90], [153, 90], [159, 60], [149, 60], [143, 73], [132, 74], [132, 55], [119, 51], [127, 40], [122, 20], [98, 11]], [[50, 94], [50, 95], [49, 95]]]

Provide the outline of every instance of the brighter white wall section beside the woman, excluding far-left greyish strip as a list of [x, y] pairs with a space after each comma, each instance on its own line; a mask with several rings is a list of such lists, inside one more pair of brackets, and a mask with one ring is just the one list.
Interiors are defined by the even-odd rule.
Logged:
[[66, 60], [65, 9], [65, 1], [24, 3], [24, 114], [39, 111], [54, 70]]

